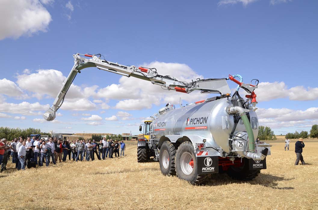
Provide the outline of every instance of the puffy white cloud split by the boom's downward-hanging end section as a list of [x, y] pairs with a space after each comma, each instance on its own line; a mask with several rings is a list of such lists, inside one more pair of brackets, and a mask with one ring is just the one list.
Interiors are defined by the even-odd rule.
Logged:
[[[44, 95], [56, 97], [66, 77], [62, 72], [54, 69], [40, 69], [37, 73], [17, 76], [17, 84], [20, 88], [33, 92], [33, 96], [41, 99]], [[45, 82], [44, 82], [45, 81]], [[80, 87], [72, 84], [67, 91], [65, 99], [84, 98]]]

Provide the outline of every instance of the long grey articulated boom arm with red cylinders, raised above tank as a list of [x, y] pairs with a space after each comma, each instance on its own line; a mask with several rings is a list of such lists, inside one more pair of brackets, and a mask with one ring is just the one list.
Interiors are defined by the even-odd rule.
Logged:
[[[87, 56], [91, 57], [90, 59], [81, 57]], [[109, 71], [115, 74], [127, 76], [127, 77], [136, 77], [139, 79], [147, 80], [153, 84], [161, 85], [167, 88], [168, 90], [176, 90], [177, 92], [190, 93], [194, 90], [200, 90], [201, 93], [219, 93], [221, 95], [231, 94], [231, 90], [226, 82], [227, 78], [222, 79], [197, 79], [192, 82], [181, 82], [176, 80], [174, 77], [159, 75], [154, 68], [144, 68], [144, 67], [135, 67], [135, 66], [124, 66], [118, 63], [109, 62], [106, 60], [100, 59], [100, 56], [89, 55], [89, 54], [75, 54], [74, 57], [74, 66], [67, 76], [66, 81], [63, 84], [63, 87], [59, 91], [58, 95], [53, 102], [53, 105], [49, 110], [47, 110], [43, 117], [47, 121], [52, 121], [55, 118], [56, 111], [61, 107], [64, 97], [67, 90], [70, 88], [75, 76], [77, 73], [80, 73], [80, 70], [88, 67], [96, 67], [101, 70]], [[255, 89], [251, 89], [252, 92]]]

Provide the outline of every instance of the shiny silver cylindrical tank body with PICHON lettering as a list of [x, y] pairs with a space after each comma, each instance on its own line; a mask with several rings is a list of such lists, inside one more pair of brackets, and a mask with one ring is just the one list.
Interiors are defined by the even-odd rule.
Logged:
[[[215, 148], [230, 152], [229, 137], [234, 125], [232, 114], [226, 107], [233, 106], [227, 98], [193, 104], [182, 108], [170, 109], [153, 121], [153, 133], [156, 139], [165, 135], [199, 135]], [[255, 112], [250, 112], [254, 138], [258, 135], [258, 120]], [[246, 131], [240, 120], [235, 131]]]

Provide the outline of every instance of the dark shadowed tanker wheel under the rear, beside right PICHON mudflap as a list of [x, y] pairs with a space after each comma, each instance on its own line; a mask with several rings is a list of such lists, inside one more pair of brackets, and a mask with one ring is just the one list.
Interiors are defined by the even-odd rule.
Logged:
[[227, 175], [236, 180], [252, 180], [258, 176], [260, 170], [249, 170], [248, 159], [244, 158], [244, 166], [242, 167], [229, 167], [226, 171]]

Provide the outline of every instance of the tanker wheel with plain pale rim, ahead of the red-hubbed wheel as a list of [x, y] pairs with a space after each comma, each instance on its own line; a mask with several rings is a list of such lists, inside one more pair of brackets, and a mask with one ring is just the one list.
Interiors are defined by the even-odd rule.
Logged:
[[170, 141], [163, 142], [159, 153], [159, 165], [163, 175], [176, 175], [176, 148]]

